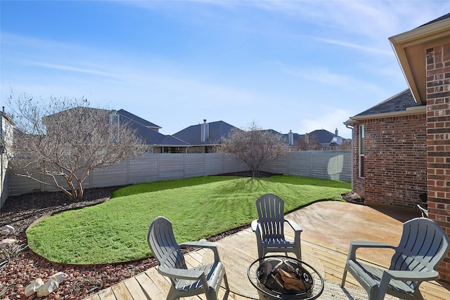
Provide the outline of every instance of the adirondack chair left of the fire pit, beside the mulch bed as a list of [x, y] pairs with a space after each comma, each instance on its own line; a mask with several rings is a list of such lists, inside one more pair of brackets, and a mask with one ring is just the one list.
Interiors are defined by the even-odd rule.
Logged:
[[[163, 216], [158, 216], [150, 226], [147, 236], [148, 245], [158, 260], [158, 272], [170, 278], [172, 287], [167, 300], [180, 297], [205, 294], [207, 300], [217, 300], [217, 292], [224, 280], [229, 291], [224, 265], [219, 261], [219, 252], [214, 242], [184, 242], [177, 244], [172, 230], [172, 223]], [[199, 247], [212, 249], [214, 263], [189, 268], [186, 266], [181, 247]]]

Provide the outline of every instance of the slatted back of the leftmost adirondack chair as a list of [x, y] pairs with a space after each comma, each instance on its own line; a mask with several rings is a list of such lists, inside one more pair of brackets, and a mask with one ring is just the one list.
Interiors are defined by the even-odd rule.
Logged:
[[187, 269], [184, 255], [174, 237], [172, 223], [165, 217], [158, 216], [150, 225], [147, 242], [160, 266]]

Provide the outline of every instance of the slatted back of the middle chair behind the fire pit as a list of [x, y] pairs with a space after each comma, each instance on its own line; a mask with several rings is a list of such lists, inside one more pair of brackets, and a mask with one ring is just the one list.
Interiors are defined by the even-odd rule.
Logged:
[[284, 237], [284, 201], [274, 195], [262, 195], [256, 200], [258, 220], [264, 238]]

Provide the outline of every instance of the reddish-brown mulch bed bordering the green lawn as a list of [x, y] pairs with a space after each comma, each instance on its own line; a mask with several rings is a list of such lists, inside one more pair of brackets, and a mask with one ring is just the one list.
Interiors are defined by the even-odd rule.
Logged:
[[[248, 176], [245, 172], [226, 175]], [[271, 175], [265, 172], [259, 174], [264, 177]], [[155, 266], [157, 262], [153, 257], [127, 263], [90, 266], [66, 265], [51, 262], [27, 248], [25, 231], [32, 223], [60, 211], [79, 209], [105, 202], [117, 188], [120, 187], [87, 189], [84, 191], [83, 199], [76, 202], [70, 202], [67, 195], [60, 192], [31, 193], [9, 197], [0, 211], [0, 230], [6, 225], [13, 226], [15, 232], [6, 237], [18, 240], [17, 244], [21, 251], [9, 259], [5, 259], [0, 252], [0, 299], [35, 299], [35, 295], [28, 298], [25, 296], [25, 287], [38, 278], [46, 282], [51, 275], [58, 272], [67, 274], [68, 278], [55, 292], [39, 299], [84, 299], [101, 289], [115, 285]], [[207, 240], [214, 242], [248, 227], [234, 228]], [[5, 237], [0, 237], [0, 240], [3, 238]]]

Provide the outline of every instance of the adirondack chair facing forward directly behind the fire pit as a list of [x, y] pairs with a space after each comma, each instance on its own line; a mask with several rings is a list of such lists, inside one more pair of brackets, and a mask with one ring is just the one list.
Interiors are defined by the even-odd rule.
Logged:
[[[258, 256], [269, 252], [292, 252], [302, 259], [300, 234], [302, 228], [284, 217], [284, 201], [274, 194], [262, 195], [256, 200], [258, 219], [252, 221], [252, 230], [256, 234]], [[285, 239], [284, 223], [288, 223], [294, 233], [294, 242]]]

